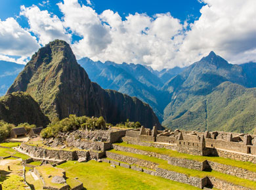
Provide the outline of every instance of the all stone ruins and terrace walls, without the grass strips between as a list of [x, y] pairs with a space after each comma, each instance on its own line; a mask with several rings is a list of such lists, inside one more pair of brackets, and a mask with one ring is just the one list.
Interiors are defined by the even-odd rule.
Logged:
[[[161, 168], [157, 162], [128, 156], [121, 152], [155, 157], [167, 164], [188, 168], [192, 170], [215, 170], [230, 176], [245, 180], [256, 181], [256, 172], [246, 168], [221, 162], [172, 157], [171, 155], [137, 149], [134, 146], [124, 146], [116, 142], [146, 147], [171, 149], [179, 153], [197, 156], [226, 157], [238, 161], [256, 163], [256, 136], [250, 134], [236, 134], [231, 132], [192, 132], [184, 130], [157, 130], [156, 127], [144, 128], [142, 126], [133, 130], [108, 129], [108, 130], [75, 130], [74, 132], [59, 133], [56, 138], [48, 139], [42, 146], [22, 143], [21, 149], [35, 157], [89, 161], [101, 159], [115, 166], [122, 166], [131, 170], [145, 172], [152, 176], [160, 176], [173, 181], [186, 183], [201, 189], [216, 187], [218, 189], [249, 189], [247, 187], [220, 180], [213, 176], [196, 177]], [[72, 147], [72, 149], [66, 149]], [[111, 149], [114, 149], [111, 151]]]

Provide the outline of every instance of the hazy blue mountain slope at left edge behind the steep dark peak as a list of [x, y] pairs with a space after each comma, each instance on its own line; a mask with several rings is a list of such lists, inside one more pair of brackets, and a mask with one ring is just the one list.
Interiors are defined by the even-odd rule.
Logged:
[[5, 95], [24, 65], [0, 60], [0, 96]]

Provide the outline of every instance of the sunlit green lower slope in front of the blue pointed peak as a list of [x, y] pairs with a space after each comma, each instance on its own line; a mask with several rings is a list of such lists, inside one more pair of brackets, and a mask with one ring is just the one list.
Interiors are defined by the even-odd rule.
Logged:
[[256, 88], [224, 82], [194, 102], [163, 123], [186, 130], [231, 132], [253, 132], [256, 126]]

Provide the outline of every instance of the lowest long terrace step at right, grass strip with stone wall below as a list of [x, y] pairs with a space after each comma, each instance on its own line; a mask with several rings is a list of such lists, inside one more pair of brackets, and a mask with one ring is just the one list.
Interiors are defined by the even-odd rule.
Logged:
[[[251, 180], [245, 180], [242, 178], [237, 178], [234, 176], [228, 176], [226, 174], [221, 174], [220, 172], [203, 172], [199, 170], [192, 170], [188, 168], [182, 168], [180, 166], [172, 166], [171, 164], [167, 164], [163, 159], [157, 159], [154, 157], [148, 157], [145, 155], [139, 155], [135, 153], [127, 153], [123, 151], [111, 150], [106, 152], [106, 156], [110, 157], [118, 162], [127, 162], [128, 164], [137, 164], [140, 162], [148, 162], [155, 163], [156, 167], [153, 168], [154, 176], [160, 176], [162, 178], [167, 178], [173, 181], [179, 181], [181, 183], [186, 183], [189, 185], [193, 185], [194, 182], [197, 181], [197, 184], [194, 184], [194, 187], [203, 188], [207, 185], [211, 185], [213, 187], [217, 187], [218, 189], [226, 190], [226, 187], [231, 187], [231, 189], [256, 189], [256, 182]], [[152, 161], [150, 161], [152, 160]], [[145, 168], [146, 165], [144, 165]], [[139, 165], [142, 168], [142, 165]], [[146, 168], [150, 168], [146, 166]], [[142, 168], [143, 169], [143, 168]], [[150, 168], [152, 169], [152, 168]], [[212, 179], [213, 182], [211, 182]], [[217, 185], [216, 181], [221, 181], [222, 185]], [[230, 186], [231, 185], [231, 186]]]

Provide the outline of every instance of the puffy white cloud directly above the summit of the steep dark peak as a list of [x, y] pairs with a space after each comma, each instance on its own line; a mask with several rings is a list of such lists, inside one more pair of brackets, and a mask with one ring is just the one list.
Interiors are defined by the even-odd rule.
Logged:
[[70, 42], [71, 35], [67, 33], [63, 23], [56, 15], [51, 15], [47, 10], [40, 10], [37, 6], [20, 7], [20, 15], [28, 18], [30, 31], [39, 38], [39, 43], [45, 45], [54, 39], [63, 39]]

